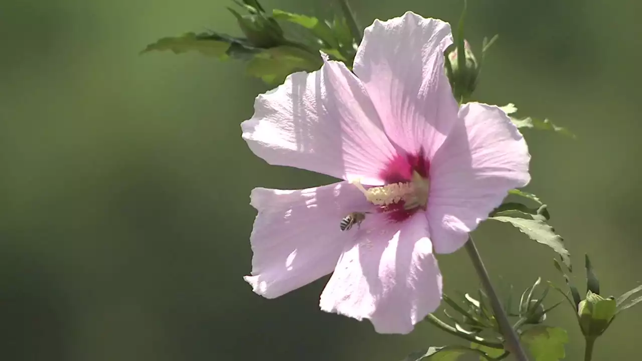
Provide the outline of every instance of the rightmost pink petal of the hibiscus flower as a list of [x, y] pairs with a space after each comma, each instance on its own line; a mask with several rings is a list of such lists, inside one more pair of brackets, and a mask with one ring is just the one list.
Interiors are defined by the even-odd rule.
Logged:
[[428, 222], [437, 253], [462, 247], [510, 189], [530, 182], [526, 141], [505, 112], [468, 103], [459, 116], [430, 168]]

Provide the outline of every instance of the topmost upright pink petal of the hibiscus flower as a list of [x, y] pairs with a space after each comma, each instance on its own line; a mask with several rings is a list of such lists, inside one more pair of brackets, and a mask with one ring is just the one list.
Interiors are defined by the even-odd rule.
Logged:
[[444, 69], [453, 42], [450, 25], [406, 12], [365, 29], [354, 59], [360, 78], [397, 146], [430, 159], [457, 119], [458, 105]]

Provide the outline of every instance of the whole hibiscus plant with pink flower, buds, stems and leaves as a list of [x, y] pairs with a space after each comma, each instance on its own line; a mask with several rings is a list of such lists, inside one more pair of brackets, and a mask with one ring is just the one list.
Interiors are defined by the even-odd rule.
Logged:
[[[561, 303], [549, 302], [550, 290], [571, 306], [591, 360], [595, 340], [616, 315], [642, 301], [627, 303], [642, 286], [618, 299], [600, 295], [588, 256], [584, 299], [571, 283], [570, 255], [549, 225], [548, 207], [521, 190], [531, 180], [521, 130], [573, 134], [546, 119], [517, 118], [513, 104], [471, 101], [497, 37], [484, 40], [476, 57], [464, 39], [465, 7], [453, 36], [448, 22], [413, 12], [363, 29], [345, 0], [327, 20], [268, 12], [257, 0], [237, 5], [229, 10], [243, 37], [186, 33], [144, 52], [198, 51], [247, 62], [249, 75], [275, 86], [256, 97], [254, 115], [241, 123], [252, 152], [269, 164], [339, 179], [252, 190], [258, 214], [245, 281], [256, 294], [279, 297], [332, 274], [321, 310], [369, 319], [378, 333], [406, 334], [426, 321], [462, 340], [406, 360], [561, 360], [568, 335], [544, 324]], [[308, 40], [291, 40], [284, 22], [300, 26]], [[485, 220], [517, 227], [557, 252], [568, 290], [537, 279], [516, 308], [500, 300], [470, 235]], [[482, 289], [450, 297], [435, 255], [462, 248]], [[440, 305], [449, 307], [441, 318]]]

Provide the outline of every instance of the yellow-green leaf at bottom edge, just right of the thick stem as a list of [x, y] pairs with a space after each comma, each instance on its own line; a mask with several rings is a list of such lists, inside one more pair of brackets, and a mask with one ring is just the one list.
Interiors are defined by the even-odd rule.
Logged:
[[534, 326], [521, 334], [534, 361], [558, 361], [566, 357], [564, 344], [568, 343], [566, 330], [559, 327]]

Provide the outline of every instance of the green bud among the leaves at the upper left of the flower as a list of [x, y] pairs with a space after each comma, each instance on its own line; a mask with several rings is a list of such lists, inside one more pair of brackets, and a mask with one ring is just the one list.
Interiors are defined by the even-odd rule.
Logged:
[[236, 17], [247, 40], [256, 48], [269, 49], [284, 44], [283, 29], [272, 17], [260, 12], [241, 15], [234, 9], [228, 10]]

